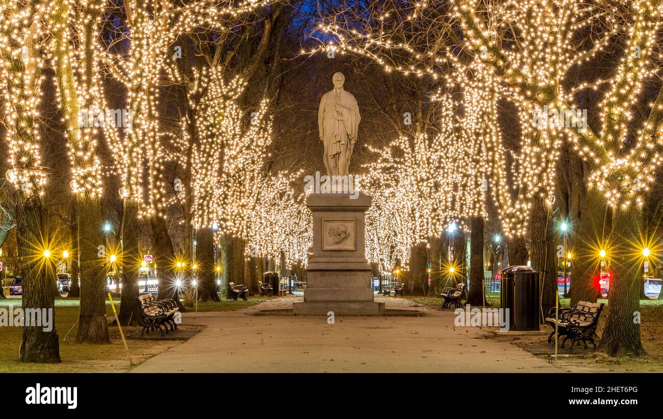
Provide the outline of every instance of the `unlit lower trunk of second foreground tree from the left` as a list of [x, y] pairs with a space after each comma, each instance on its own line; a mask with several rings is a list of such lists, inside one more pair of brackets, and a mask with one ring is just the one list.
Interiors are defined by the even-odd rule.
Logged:
[[106, 276], [97, 256], [104, 243], [98, 198], [79, 194], [76, 199], [80, 231], [81, 300], [76, 343], [111, 343], [106, 323]]

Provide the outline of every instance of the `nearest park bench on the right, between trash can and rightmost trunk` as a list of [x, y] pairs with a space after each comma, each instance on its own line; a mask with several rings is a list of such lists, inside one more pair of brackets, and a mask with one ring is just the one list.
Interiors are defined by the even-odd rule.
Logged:
[[548, 310], [548, 316], [546, 316], [546, 323], [552, 328], [552, 332], [548, 335], [548, 343], [552, 343], [552, 337], [555, 335], [555, 328], [557, 328], [558, 339], [564, 336], [562, 347], [568, 339], [571, 339], [570, 349], [573, 349], [573, 345], [577, 341], [585, 343], [585, 347], [587, 347], [587, 341], [589, 341], [596, 349], [593, 335], [603, 310], [602, 303], [579, 301], [573, 308], [558, 309], [557, 318], [555, 317], [555, 310], [555, 308], [551, 308]]

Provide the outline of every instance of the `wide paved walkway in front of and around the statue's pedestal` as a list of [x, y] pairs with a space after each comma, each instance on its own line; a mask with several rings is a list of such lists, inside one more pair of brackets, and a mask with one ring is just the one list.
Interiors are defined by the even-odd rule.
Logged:
[[[237, 312], [184, 314], [207, 326], [132, 372], [536, 372], [561, 371], [480, 328], [455, 328], [453, 311], [377, 297], [387, 308], [420, 317], [253, 316], [291, 308], [301, 298], [275, 298]], [[412, 307], [412, 306], [416, 306]]]

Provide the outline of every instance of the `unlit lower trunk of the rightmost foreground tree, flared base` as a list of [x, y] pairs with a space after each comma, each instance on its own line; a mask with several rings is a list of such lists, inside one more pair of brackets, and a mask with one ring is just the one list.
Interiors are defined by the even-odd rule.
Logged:
[[642, 260], [633, 257], [633, 245], [639, 243], [640, 209], [631, 206], [615, 209], [609, 259], [611, 268], [609, 314], [597, 351], [611, 357], [646, 355], [640, 341], [640, 323], [634, 321], [640, 310], [640, 267]]

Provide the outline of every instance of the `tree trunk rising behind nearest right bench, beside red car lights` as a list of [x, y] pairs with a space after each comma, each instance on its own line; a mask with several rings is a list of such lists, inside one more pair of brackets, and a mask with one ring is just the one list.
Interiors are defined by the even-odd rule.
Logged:
[[605, 197], [595, 188], [587, 190], [572, 250], [569, 289], [571, 306], [579, 301], [596, 302], [601, 271], [598, 253], [606, 246], [605, 232], [610, 225], [609, 215]]

